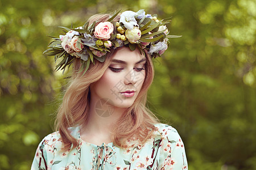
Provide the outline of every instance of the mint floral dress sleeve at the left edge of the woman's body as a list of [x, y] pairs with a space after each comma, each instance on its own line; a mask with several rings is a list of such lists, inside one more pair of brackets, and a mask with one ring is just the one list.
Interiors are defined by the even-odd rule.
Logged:
[[34, 169], [47, 169], [47, 154], [46, 154], [46, 138], [44, 138], [36, 149], [35, 157], [32, 162], [31, 170]]

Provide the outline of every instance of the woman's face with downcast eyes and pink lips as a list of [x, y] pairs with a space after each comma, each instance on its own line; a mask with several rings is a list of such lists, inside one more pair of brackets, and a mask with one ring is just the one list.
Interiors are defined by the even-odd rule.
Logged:
[[138, 49], [118, 49], [104, 75], [90, 87], [91, 101], [104, 99], [113, 107], [130, 107], [144, 82], [145, 63], [146, 57]]

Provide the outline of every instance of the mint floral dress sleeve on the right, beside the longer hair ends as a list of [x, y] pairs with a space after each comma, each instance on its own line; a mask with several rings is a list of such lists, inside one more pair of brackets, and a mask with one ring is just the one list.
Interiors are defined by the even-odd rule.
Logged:
[[188, 163], [184, 143], [177, 130], [171, 126], [166, 126], [163, 129], [159, 129], [159, 131], [162, 133], [159, 169], [187, 170]]

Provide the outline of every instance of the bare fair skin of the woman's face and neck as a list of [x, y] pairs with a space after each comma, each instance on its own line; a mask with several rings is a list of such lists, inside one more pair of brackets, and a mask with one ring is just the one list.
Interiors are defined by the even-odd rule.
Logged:
[[[141, 90], [145, 78], [145, 63], [146, 57], [140, 54], [138, 49], [131, 51], [123, 47], [114, 53], [112, 62], [104, 75], [90, 86], [89, 118], [81, 128], [82, 140], [95, 145], [112, 142], [110, 134], [112, 125], [125, 109], [134, 103]], [[121, 94], [127, 90], [134, 90], [134, 96], [126, 97]], [[96, 104], [100, 99], [106, 101], [102, 110], [112, 108], [110, 116], [102, 117], [96, 111]]]

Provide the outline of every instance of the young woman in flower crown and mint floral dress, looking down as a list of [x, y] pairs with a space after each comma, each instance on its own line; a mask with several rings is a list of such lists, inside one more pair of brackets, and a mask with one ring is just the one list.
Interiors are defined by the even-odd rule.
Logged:
[[[31, 169], [188, 169], [184, 144], [146, 107], [152, 57], [167, 49], [155, 16], [95, 15], [46, 50], [73, 65], [57, 130], [40, 142]], [[122, 29], [121, 29], [122, 28]]]

